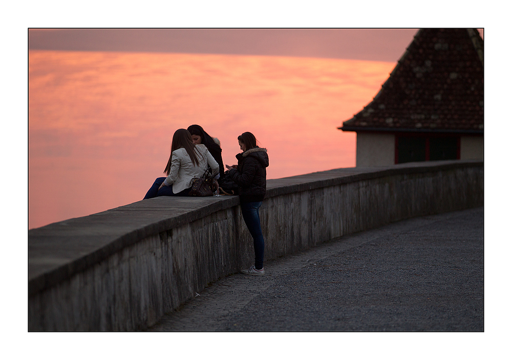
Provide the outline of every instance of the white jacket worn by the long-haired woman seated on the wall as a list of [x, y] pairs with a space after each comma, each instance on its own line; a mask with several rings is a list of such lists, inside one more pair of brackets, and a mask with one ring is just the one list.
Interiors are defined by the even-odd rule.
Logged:
[[194, 165], [184, 148], [173, 151], [169, 175], [163, 183], [166, 186], [173, 185], [173, 193], [175, 194], [191, 187], [192, 179], [194, 177], [201, 177], [208, 166], [211, 168], [214, 176], [219, 173], [219, 164], [211, 156], [206, 146], [198, 144], [195, 146], [194, 151], [196, 151], [199, 166]]

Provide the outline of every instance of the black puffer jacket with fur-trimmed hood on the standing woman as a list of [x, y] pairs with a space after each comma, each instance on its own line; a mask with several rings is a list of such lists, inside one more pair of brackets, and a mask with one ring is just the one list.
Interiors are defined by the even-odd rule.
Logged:
[[267, 149], [254, 147], [237, 154], [238, 169], [229, 175], [239, 187], [241, 202], [262, 201], [267, 192]]

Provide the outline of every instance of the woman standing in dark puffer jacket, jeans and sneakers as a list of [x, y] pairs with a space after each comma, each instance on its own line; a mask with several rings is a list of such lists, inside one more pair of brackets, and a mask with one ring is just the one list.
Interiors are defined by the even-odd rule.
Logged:
[[250, 132], [244, 132], [239, 136], [238, 143], [243, 151], [237, 154], [238, 165], [226, 165], [226, 168], [239, 187], [242, 216], [254, 243], [254, 265], [242, 269], [242, 273], [264, 275], [265, 240], [261, 231], [259, 209], [267, 191], [267, 149], [258, 147], [256, 138]]

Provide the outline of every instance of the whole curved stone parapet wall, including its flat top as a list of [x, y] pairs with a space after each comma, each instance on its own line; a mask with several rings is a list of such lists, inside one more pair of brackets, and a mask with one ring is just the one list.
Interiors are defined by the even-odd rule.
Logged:
[[[237, 196], [159, 197], [29, 231], [29, 330], [141, 330], [253, 263]], [[265, 260], [416, 216], [483, 205], [483, 162], [269, 180]]]

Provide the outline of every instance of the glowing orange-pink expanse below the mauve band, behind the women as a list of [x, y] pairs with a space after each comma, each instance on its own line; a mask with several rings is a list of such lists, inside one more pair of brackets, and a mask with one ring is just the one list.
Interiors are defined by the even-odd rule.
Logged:
[[394, 63], [271, 56], [29, 52], [29, 228], [142, 199], [178, 128], [255, 134], [268, 178], [355, 166], [337, 129]]

